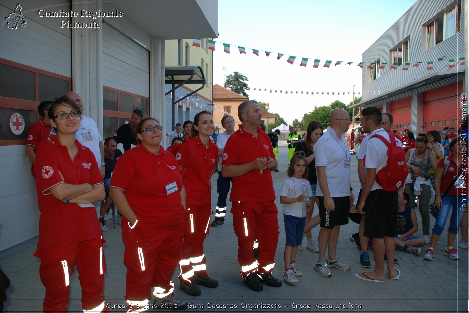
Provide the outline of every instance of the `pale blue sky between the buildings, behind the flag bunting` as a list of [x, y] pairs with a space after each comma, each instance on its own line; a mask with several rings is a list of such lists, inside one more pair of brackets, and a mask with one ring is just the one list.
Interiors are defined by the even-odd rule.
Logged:
[[[233, 44], [231, 53], [216, 44], [213, 54], [213, 83], [223, 85], [224, 75], [234, 71], [249, 79], [250, 99], [269, 102], [270, 111], [277, 112], [291, 123], [315, 106], [328, 105], [335, 100], [348, 104], [352, 88], [362, 91], [362, 71], [357, 66], [362, 53], [416, 1], [278, 1], [238, 0], [218, 2], [218, 31], [214, 40]], [[239, 54], [235, 45], [246, 47]], [[259, 57], [252, 54], [254, 48]], [[271, 51], [266, 57], [264, 51]], [[277, 52], [285, 54], [277, 60]], [[287, 63], [289, 55], [295, 63]], [[307, 67], [299, 66], [301, 58], [310, 58]], [[315, 58], [321, 59], [313, 68]], [[329, 69], [325, 60], [333, 60]], [[334, 66], [335, 61], [344, 61]], [[346, 66], [348, 61], [354, 61]], [[371, 62], [373, 60], [367, 60]], [[226, 70], [223, 68], [226, 67]], [[279, 93], [254, 91], [253, 88], [278, 89]], [[280, 89], [294, 90], [280, 94]], [[319, 95], [295, 95], [295, 91], [319, 91]], [[342, 92], [340, 95], [320, 95], [321, 91]], [[347, 96], [347, 92], [350, 95]]]

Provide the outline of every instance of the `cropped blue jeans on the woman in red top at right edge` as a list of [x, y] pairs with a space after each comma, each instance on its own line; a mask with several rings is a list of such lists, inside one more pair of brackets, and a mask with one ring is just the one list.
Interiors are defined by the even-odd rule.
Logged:
[[[443, 194], [440, 194], [440, 196], [443, 196]], [[466, 210], [466, 206], [468, 204], [468, 196], [447, 194], [442, 200], [443, 205], [438, 211], [435, 226], [433, 226], [431, 233], [434, 233], [435, 235], [441, 235], [441, 233], [443, 233], [443, 229], [446, 225], [446, 219], [448, 219], [449, 211], [451, 207], [453, 207], [453, 212], [451, 213], [451, 218], [449, 220], [448, 233], [454, 233], [457, 235], [459, 226], [461, 225], [462, 215], [464, 214], [464, 212], [461, 211], [461, 208], [463, 210]]]

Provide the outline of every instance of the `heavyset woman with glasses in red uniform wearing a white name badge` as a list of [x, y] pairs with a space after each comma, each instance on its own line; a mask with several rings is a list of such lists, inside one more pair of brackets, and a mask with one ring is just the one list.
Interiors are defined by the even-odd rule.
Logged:
[[181, 257], [186, 193], [174, 155], [160, 146], [162, 127], [151, 117], [137, 126], [137, 146], [119, 158], [110, 194], [122, 214], [128, 312], [149, 308], [151, 287], [159, 308], [183, 310], [173, 297]]

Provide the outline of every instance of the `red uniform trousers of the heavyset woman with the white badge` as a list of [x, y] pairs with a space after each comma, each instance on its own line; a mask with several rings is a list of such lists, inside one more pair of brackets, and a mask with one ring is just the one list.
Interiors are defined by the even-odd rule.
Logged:
[[183, 223], [154, 228], [152, 233], [156, 240], [152, 241], [151, 247], [126, 246], [124, 251], [127, 267], [124, 298], [137, 307], [151, 299], [151, 287], [154, 287], [153, 294], [157, 298], [164, 298], [174, 291], [171, 277], [181, 260]]

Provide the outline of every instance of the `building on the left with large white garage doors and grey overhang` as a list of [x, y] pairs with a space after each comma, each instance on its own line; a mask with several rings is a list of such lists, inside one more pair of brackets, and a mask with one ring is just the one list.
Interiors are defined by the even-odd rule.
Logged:
[[[165, 41], [218, 36], [217, 0], [142, 3], [144, 10], [126, 0], [0, 3], [8, 18], [0, 28], [0, 251], [38, 235], [36, 186], [24, 152], [41, 101], [75, 91], [103, 137], [136, 108], [167, 125]], [[174, 23], [174, 12], [197, 22]], [[21, 118], [12, 120], [14, 114]]]

